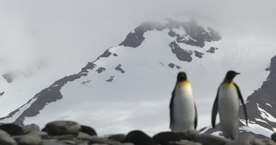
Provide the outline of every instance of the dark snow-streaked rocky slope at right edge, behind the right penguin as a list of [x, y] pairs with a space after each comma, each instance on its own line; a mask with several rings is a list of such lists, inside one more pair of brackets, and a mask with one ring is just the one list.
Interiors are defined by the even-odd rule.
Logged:
[[[276, 98], [276, 56], [271, 58], [271, 63], [269, 69], [270, 73], [267, 80], [263, 82], [262, 86], [255, 90], [250, 96], [247, 97], [245, 101], [245, 106], [248, 116], [248, 126], [259, 125], [270, 131], [274, 131], [276, 128], [276, 103], [274, 102]], [[244, 111], [242, 106], [240, 106], [240, 119], [245, 120]], [[245, 127], [242, 122], [240, 122], [241, 127]], [[206, 128], [201, 129], [204, 131]], [[216, 131], [221, 131], [220, 123], [215, 126], [215, 129], [209, 129], [204, 133], [211, 134]], [[241, 129], [239, 135], [248, 133], [248, 131]], [[262, 134], [256, 134], [251, 131], [249, 133], [254, 134], [260, 139], [267, 139], [267, 136]], [[220, 134], [223, 135], [223, 134]]]

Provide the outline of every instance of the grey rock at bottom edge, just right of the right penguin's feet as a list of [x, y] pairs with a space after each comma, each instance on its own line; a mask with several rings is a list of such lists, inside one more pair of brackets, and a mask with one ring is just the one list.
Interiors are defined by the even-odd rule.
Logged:
[[225, 145], [254, 145], [255, 137], [252, 134], [245, 134], [227, 142]]

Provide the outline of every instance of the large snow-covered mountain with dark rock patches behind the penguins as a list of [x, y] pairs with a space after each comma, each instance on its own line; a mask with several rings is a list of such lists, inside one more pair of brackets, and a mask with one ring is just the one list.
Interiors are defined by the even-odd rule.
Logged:
[[[13, 103], [15, 92], [1, 90], [0, 99], [7, 102], [7, 109], [1, 112], [0, 121], [43, 127], [52, 120], [74, 120], [94, 127], [98, 134], [127, 133], [134, 129], [149, 134], [168, 131], [171, 92], [177, 73], [184, 71], [194, 90], [198, 126], [206, 127], [211, 124], [212, 103], [226, 72], [241, 73], [234, 81], [246, 100], [266, 81], [269, 72], [265, 69], [276, 49], [274, 44], [230, 39], [216, 31], [214, 25], [204, 24], [211, 23], [198, 23], [194, 19], [147, 21], [133, 29], [122, 43], [88, 62], [79, 73], [65, 76], [36, 94], [35, 90], [24, 91], [29, 98], [22, 98], [21, 104]], [[272, 65], [270, 70], [272, 73]], [[12, 85], [17, 80], [15, 76], [22, 74], [25, 73], [4, 73], [2, 77]], [[248, 97], [246, 106], [259, 102], [256, 98]], [[10, 103], [21, 107], [9, 107]], [[264, 121], [269, 124], [268, 120], [273, 122], [273, 118], [261, 117], [274, 114], [266, 110], [269, 105], [258, 104], [257, 120], [250, 119], [256, 112], [248, 112], [250, 123], [255, 122], [270, 133], [273, 127], [269, 128]], [[244, 130], [260, 134], [259, 127]]]

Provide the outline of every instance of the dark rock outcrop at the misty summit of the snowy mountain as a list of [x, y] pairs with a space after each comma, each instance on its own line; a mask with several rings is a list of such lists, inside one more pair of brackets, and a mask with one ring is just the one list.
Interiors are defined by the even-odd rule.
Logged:
[[[170, 29], [168, 35], [171, 37], [176, 37], [177, 43], [185, 43], [188, 45], [198, 46], [201, 48], [204, 47], [205, 42], [219, 41], [221, 39], [220, 33], [215, 31], [214, 29], [211, 29], [210, 27], [208, 27], [207, 30], [204, 29], [203, 27], [199, 26], [195, 20], [191, 20], [190, 22], [177, 22], [168, 19], [168, 22], [169, 23], [167, 25], [162, 25], [156, 22], [147, 21], [139, 27], [137, 27], [136, 29], [134, 29], [134, 32], [130, 32], [127, 38], [119, 45], [136, 48], [145, 40], [144, 33], [146, 31], [151, 31], [154, 29], [159, 31], [163, 29]], [[174, 31], [174, 29], [180, 29], [180, 27], [185, 30], [185, 32], [183, 32], [182, 34], [179, 34], [176, 31]], [[175, 53], [178, 58], [182, 54], [184, 54], [185, 56], [188, 55], [187, 53], [185, 53], [185, 50], [180, 47], [176, 47], [176, 50], [173, 51], [173, 53]], [[199, 53], [196, 53], [195, 55], [199, 58], [200, 56], [202, 57], [202, 55], [199, 55]], [[180, 59], [183, 61], [190, 61], [191, 58], [183, 59], [182, 57]]]

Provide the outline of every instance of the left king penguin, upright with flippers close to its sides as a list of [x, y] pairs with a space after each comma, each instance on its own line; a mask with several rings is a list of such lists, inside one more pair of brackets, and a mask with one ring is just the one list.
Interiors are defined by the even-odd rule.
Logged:
[[196, 125], [197, 113], [192, 87], [186, 73], [180, 72], [170, 102], [170, 129], [172, 132], [181, 132], [194, 130]]

